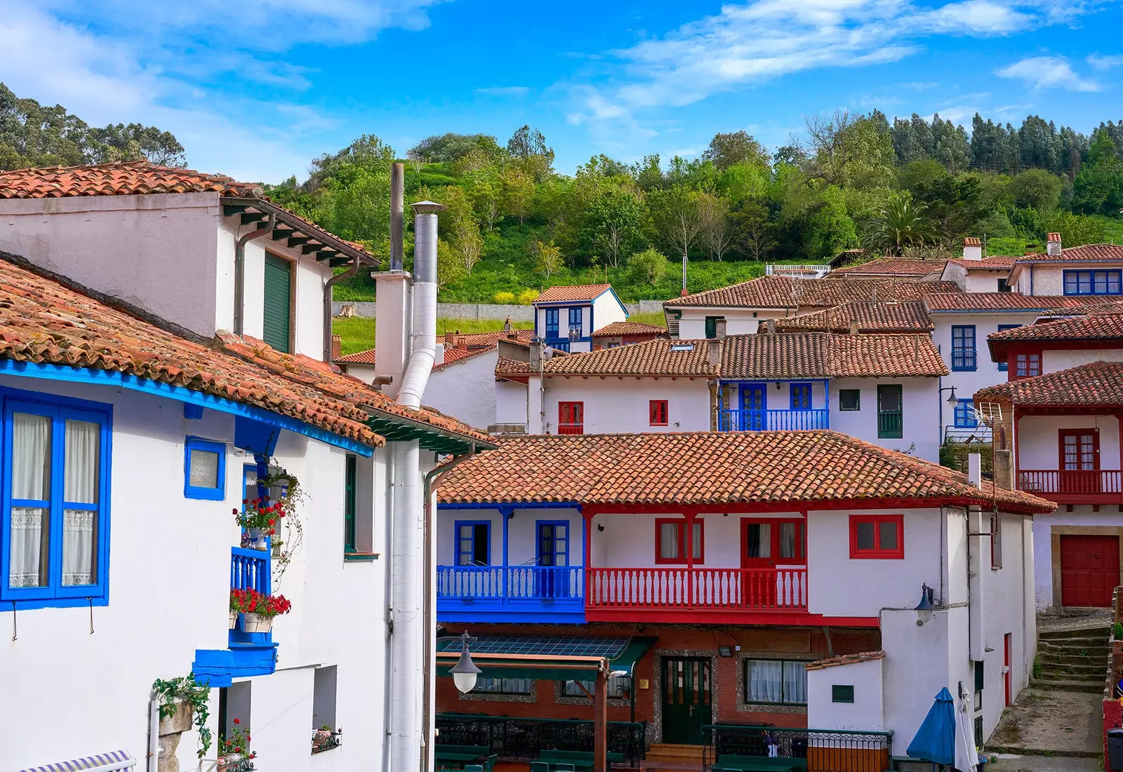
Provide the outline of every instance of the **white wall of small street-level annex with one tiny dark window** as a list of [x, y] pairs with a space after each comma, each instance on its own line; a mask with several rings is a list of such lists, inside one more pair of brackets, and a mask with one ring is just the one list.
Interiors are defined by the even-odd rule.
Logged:
[[[852, 704], [832, 701], [836, 684], [853, 687]], [[885, 723], [882, 691], [882, 660], [809, 670], [807, 726], [880, 732]]]

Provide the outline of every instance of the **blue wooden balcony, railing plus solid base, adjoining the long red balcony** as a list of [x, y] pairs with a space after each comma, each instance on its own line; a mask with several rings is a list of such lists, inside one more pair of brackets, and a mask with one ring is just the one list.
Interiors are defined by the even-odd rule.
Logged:
[[438, 566], [439, 622], [585, 622], [579, 566]]

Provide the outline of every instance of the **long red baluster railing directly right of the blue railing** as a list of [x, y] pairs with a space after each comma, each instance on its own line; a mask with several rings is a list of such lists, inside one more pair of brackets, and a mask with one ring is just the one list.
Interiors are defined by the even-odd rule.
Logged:
[[805, 568], [591, 568], [586, 575], [586, 608], [807, 608]]

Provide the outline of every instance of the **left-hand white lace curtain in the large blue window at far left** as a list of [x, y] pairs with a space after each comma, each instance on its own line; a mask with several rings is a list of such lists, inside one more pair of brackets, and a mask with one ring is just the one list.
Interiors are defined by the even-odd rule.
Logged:
[[[44, 502], [51, 489], [51, 419], [15, 413], [11, 436], [12, 498]], [[47, 583], [46, 506], [11, 509], [10, 587], [44, 587]]]

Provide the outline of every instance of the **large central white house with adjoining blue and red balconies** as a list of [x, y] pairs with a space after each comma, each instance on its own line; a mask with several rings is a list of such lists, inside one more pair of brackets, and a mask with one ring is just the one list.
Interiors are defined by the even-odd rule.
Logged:
[[[634, 642], [609, 717], [647, 722], [652, 754], [767, 724], [809, 768], [833, 747], [886, 769], [943, 687], [982, 744], [1030, 677], [1031, 520], [1053, 504], [977, 461], [833, 431], [510, 439], [439, 488], [437, 616], [527, 654]], [[573, 682], [482, 676], [440, 679], [438, 722], [591, 717]]]

